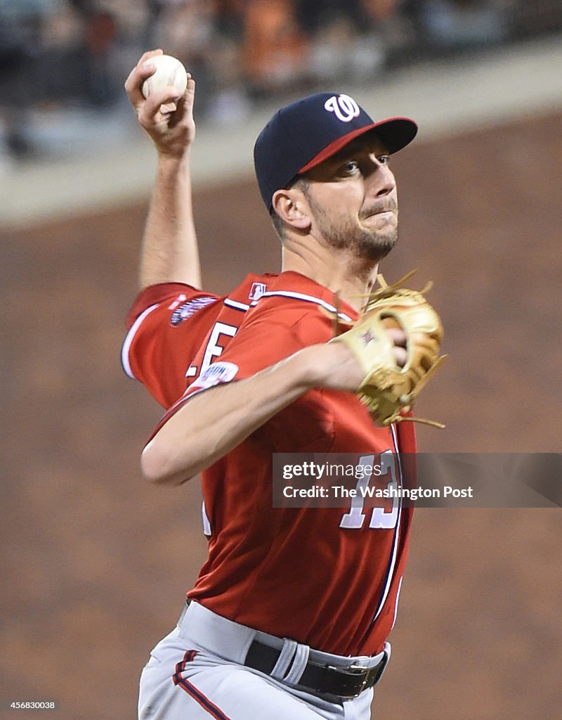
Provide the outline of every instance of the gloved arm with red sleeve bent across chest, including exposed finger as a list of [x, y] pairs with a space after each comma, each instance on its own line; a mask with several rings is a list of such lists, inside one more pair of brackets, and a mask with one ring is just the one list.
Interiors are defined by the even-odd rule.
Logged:
[[[309, 341], [316, 341], [312, 328], [307, 329]], [[389, 336], [396, 361], [403, 364], [402, 333], [392, 328]], [[344, 343], [303, 347], [303, 342], [294, 326], [275, 323], [271, 315], [258, 315], [243, 325], [219, 361], [201, 374], [155, 429], [142, 451], [147, 480], [180, 485], [307, 390], [358, 387], [364, 373]]]

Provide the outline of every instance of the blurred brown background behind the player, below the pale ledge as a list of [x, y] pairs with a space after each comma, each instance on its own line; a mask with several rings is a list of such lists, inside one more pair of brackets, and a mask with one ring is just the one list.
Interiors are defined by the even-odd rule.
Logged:
[[[450, 354], [418, 405], [447, 423], [420, 428], [423, 451], [561, 449], [561, 122], [394, 158], [401, 238], [382, 269], [435, 281]], [[195, 194], [205, 287], [278, 269], [253, 179]], [[0, 234], [0, 698], [58, 700], [64, 720], [135, 718], [205, 554], [197, 483], [140, 478], [160, 409], [119, 368], [146, 209]], [[418, 511], [377, 719], [560, 717], [561, 530], [556, 509]]]

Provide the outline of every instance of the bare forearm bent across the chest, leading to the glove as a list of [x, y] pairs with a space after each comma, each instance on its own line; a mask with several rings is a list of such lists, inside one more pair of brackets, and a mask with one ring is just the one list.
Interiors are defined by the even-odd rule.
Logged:
[[179, 485], [212, 465], [304, 392], [325, 384], [318, 358], [331, 350], [311, 346], [253, 377], [196, 395], [145, 447], [145, 477]]

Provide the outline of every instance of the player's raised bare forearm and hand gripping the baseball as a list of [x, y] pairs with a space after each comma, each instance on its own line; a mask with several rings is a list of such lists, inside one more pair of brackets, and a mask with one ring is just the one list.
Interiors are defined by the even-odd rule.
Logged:
[[[158, 167], [140, 252], [140, 289], [164, 282], [201, 287], [201, 268], [191, 200], [191, 145], [195, 137], [195, 81], [186, 91], [172, 87], [142, 95], [142, 83], [154, 72], [152, 50], [142, 55], [125, 83], [140, 125], [158, 153]], [[148, 64], [147, 64], [148, 63]]]

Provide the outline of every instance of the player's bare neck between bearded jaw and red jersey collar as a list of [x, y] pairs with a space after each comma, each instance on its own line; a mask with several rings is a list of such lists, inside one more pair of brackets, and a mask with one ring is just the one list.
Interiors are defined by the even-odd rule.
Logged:
[[350, 256], [345, 251], [312, 252], [284, 246], [282, 269], [311, 278], [337, 292], [355, 310], [361, 310], [376, 280], [378, 265]]

